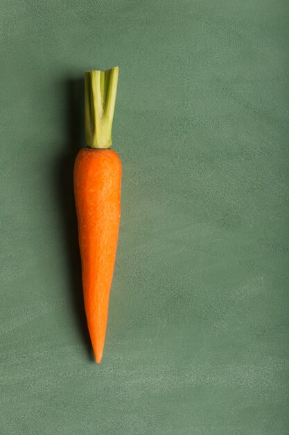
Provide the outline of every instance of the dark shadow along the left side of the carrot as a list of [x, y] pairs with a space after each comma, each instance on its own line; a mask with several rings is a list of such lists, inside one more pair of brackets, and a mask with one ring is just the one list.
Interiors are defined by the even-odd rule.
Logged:
[[67, 92], [67, 145], [58, 161], [58, 201], [63, 219], [64, 243], [69, 271], [69, 299], [87, 354], [94, 361], [82, 295], [80, 253], [76, 206], [73, 195], [73, 165], [78, 150], [84, 144], [84, 79], [64, 82]]

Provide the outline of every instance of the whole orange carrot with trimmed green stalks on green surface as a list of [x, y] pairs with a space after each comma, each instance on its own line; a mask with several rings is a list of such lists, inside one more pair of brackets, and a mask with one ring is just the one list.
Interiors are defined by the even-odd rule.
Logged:
[[121, 161], [110, 149], [118, 76], [118, 67], [85, 73], [88, 147], [78, 151], [73, 171], [85, 313], [97, 363], [105, 344], [121, 217]]

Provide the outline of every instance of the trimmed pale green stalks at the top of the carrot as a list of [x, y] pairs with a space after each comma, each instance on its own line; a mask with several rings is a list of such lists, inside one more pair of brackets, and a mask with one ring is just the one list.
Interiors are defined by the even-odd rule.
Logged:
[[90, 148], [112, 146], [119, 67], [85, 72], [85, 137]]

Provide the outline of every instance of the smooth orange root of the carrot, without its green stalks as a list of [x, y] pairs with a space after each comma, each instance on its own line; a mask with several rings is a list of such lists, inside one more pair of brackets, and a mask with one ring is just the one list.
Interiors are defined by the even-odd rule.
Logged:
[[80, 149], [73, 183], [85, 313], [100, 363], [121, 218], [121, 160], [116, 151]]

